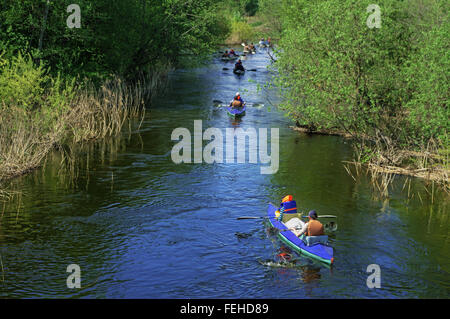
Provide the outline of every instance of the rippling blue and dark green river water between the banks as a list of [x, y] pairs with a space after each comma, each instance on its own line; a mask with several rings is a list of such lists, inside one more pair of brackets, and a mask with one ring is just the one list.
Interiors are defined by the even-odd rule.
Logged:
[[[416, 179], [409, 199], [403, 177], [386, 200], [364, 175], [355, 182], [342, 164], [352, 156], [347, 141], [292, 131], [270, 106], [276, 94], [257, 91], [268, 62], [250, 57], [244, 65], [258, 71], [241, 78], [217, 59], [177, 71], [139, 133], [81, 148], [75, 182], [57, 155], [15, 180], [22, 195], [0, 215], [0, 297], [448, 298], [448, 198], [435, 189], [432, 203]], [[236, 91], [263, 104], [240, 122], [212, 104]], [[279, 128], [278, 172], [262, 175], [248, 161], [174, 164], [171, 133], [193, 132], [194, 120], [203, 129]], [[338, 216], [331, 269], [296, 254], [281, 262], [286, 247], [264, 220], [236, 220], [265, 216], [286, 194], [304, 212]], [[81, 289], [66, 286], [69, 264], [81, 267]], [[381, 267], [380, 289], [366, 285], [370, 264]]]

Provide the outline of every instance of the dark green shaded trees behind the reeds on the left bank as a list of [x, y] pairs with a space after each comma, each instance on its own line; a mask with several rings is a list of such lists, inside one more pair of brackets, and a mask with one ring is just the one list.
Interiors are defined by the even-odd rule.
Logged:
[[0, 51], [7, 58], [25, 51], [53, 75], [134, 79], [160, 65], [176, 66], [186, 55], [206, 55], [228, 31], [213, 0], [79, 0], [78, 29], [66, 24], [71, 3], [2, 1]]

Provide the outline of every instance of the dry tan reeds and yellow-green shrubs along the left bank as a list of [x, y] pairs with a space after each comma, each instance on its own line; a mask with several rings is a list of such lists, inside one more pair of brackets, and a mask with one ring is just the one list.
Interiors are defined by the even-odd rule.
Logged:
[[120, 134], [127, 120], [144, 116], [145, 103], [162, 88], [168, 71], [134, 83], [112, 77], [97, 88], [48, 78], [31, 59], [14, 59], [0, 77], [0, 188], [40, 167], [54, 149]]

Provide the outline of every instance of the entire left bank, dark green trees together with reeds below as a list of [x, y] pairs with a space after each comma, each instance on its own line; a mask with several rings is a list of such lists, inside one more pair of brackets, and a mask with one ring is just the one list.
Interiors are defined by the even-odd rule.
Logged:
[[80, 0], [78, 19], [69, 0], [3, 1], [0, 182], [54, 148], [117, 135], [143, 116], [169, 68], [223, 42], [222, 3]]

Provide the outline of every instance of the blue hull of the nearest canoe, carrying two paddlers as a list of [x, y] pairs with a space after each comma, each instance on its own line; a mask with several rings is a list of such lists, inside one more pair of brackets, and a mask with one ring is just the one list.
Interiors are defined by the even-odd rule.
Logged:
[[[275, 218], [275, 211], [277, 208], [272, 204], [269, 204], [269, 208], [267, 209], [267, 215], [269, 217], [269, 221], [272, 227], [283, 230], [288, 229], [286, 225]], [[286, 243], [289, 247], [295, 250], [297, 253], [301, 255], [306, 255], [315, 260], [321, 261], [327, 265], [333, 264], [333, 247], [329, 245], [325, 245], [322, 243], [315, 243], [311, 246], [307, 246], [303, 240], [298, 238], [292, 231], [279, 231], [278, 237]]]

